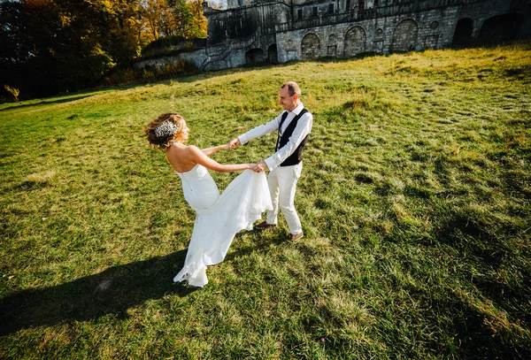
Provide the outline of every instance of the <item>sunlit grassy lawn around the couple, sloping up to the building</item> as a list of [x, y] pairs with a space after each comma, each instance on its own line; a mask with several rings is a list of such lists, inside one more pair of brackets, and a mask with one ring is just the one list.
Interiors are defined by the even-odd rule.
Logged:
[[[195, 213], [143, 126], [175, 111], [189, 143], [224, 143], [281, 111], [285, 80], [314, 116], [304, 239], [281, 218], [203, 289], [173, 284]], [[2, 104], [0, 357], [528, 358], [530, 119], [531, 42]]]

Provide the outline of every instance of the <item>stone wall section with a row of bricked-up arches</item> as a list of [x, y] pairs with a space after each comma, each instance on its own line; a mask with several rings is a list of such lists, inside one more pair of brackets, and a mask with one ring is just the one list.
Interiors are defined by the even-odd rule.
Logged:
[[451, 43], [456, 7], [277, 34], [279, 61], [353, 57], [364, 52], [438, 49]]

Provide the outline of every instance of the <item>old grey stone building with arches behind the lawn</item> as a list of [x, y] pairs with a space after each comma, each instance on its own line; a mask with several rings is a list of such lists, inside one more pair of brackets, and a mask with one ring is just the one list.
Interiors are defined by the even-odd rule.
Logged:
[[202, 70], [531, 37], [531, 0], [227, 0], [204, 2], [205, 46], [176, 57]]

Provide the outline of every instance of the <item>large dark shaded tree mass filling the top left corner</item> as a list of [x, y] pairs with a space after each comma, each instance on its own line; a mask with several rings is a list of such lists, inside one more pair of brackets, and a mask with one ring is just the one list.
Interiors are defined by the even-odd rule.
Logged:
[[139, 52], [135, 1], [4, 2], [2, 75], [28, 95], [94, 86]]

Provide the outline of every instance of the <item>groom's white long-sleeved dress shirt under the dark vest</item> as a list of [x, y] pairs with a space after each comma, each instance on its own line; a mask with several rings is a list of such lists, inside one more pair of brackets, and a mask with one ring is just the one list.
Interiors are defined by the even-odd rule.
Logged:
[[[280, 134], [283, 134], [284, 131], [286, 131], [286, 128], [289, 126], [289, 123], [291, 123], [291, 120], [293, 120], [301, 111], [303, 111], [303, 109], [304, 104], [300, 103], [295, 109], [293, 109], [293, 111], [288, 111], [288, 117], [286, 117], [284, 123], [282, 124]], [[254, 129], [248, 131], [247, 133], [238, 136], [238, 139], [242, 144], [244, 144], [264, 134], [273, 133], [273, 131], [278, 130], [281, 124], [283, 113], [284, 111], [282, 111], [279, 116], [269, 121], [268, 123], [257, 126]], [[293, 154], [296, 148], [304, 140], [306, 135], [312, 132], [312, 124], [313, 118], [310, 112], [306, 112], [300, 119], [298, 119], [296, 128], [295, 130], [293, 130], [293, 134], [289, 136], [288, 143], [284, 145], [281, 149], [279, 149], [277, 152], [275, 152], [271, 157], [267, 157], [264, 160], [269, 170], [273, 170], [275, 167], [281, 165], [284, 160], [286, 160], [291, 154]]]

